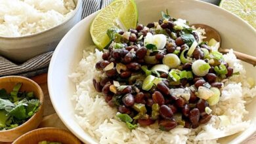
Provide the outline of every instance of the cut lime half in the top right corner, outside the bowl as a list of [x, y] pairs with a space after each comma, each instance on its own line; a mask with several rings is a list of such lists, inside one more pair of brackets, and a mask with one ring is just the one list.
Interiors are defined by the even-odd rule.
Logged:
[[222, 0], [219, 6], [236, 14], [256, 29], [255, 0]]

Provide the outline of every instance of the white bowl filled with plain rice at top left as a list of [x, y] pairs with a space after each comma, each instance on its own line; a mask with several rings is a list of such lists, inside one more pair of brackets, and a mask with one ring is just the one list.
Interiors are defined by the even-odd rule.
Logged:
[[81, 0], [0, 1], [0, 54], [24, 62], [54, 50], [81, 20]]

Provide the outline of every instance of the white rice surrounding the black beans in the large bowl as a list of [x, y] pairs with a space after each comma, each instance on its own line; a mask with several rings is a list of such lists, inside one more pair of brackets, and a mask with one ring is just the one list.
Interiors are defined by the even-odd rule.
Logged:
[[[177, 126], [170, 132], [159, 130], [157, 124], [146, 128], [139, 126], [130, 131], [124, 122], [115, 118], [116, 109], [109, 107], [102, 94], [93, 87], [93, 77], [100, 75], [95, 69], [95, 63], [102, 60], [101, 56], [102, 52], [98, 50], [84, 51], [75, 73], [70, 75], [77, 89], [72, 96], [77, 103], [77, 122], [99, 143], [217, 143], [219, 137], [235, 134], [249, 126], [250, 121], [244, 120], [247, 113], [245, 99], [256, 95], [256, 87], [250, 88], [245, 81], [244, 67], [232, 51], [224, 55], [224, 59], [234, 68], [234, 72], [240, 71], [241, 75], [232, 76], [230, 81], [224, 83], [219, 103], [211, 107], [211, 120], [196, 129]], [[221, 120], [218, 115], [225, 115], [227, 120]]]

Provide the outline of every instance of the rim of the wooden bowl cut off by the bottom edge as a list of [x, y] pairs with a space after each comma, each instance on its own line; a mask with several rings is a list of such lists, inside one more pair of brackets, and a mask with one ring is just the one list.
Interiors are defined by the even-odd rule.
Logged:
[[[74, 141], [77, 141], [77, 143], [81, 143], [81, 141], [75, 137], [74, 134], [72, 134], [72, 132], [68, 132], [68, 130], [64, 130], [62, 128], [54, 128], [54, 127], [47, 127], [47, 128], [37, 128], [35, 130], [32, 130], [30, 132], [27, 132], [23, 135], [21, 135], [20, 137], [18, 137], [17, 139], [15, 139], [15, 141], [13, 141], [12, 143], [16, 143], [17, 141], [19, 141], [20, 139], [22, 139], [23, 137], [26, 137], [28, 135], [32, 135], [33, 133], [35, 132], [39, 132], [38, 134], [42, 133], [42, 132], [45, 132], [47, 130], [51, 130], [51, 133], [55, 133], [55, 134], [58, 134], [60, 132], [62, 132], [63, 134], [67, 134], [67, 135], [70, 135], [70, 137], [72, 137], [74, 139]], [[65, 139], [66, 137], [63, 137], [63, 139]]]

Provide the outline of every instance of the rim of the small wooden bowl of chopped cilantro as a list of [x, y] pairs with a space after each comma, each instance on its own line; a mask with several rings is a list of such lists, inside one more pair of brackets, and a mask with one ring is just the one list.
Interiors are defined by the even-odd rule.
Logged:
[[17, 130], [20, 130], [20, 128], [24, 128], [25, 126], [29, 126], [30, 122], [32, 120], [35, 120], [35, 117], [39, 116], [39, 111], [43, 110], [43, 105], [44, 105], [44, 95], [43, 95], [43, 90], [41, 89], [41, 87], [39, 86], [39, 84], [37, 84], [37, 82], [33, 81], [32, 79], [28, 79], [26, 77], [21, 77], [21, 76], [6, 76], [6, 77], [0, 77], [0, 82], [2, 79], [9, 79], [9, 78], [19, 78], [19, 79], [24, 79], [28, 82], [31, 82], [33, 85], [35, 85], [37, 87], [37, 90], [39, 91], [39, 101], [40, 101], [40, 105], [38, 108], [38, 111], [32, 116], [30, 117], [26, 122], [24, 122], [23, 124], [21, 124], [20, 126], [17, 126], [16, 128], [12, 128], [10, 130], [0, 130], [0, 134], [5, 134], [6, 132], [14, 132]]

